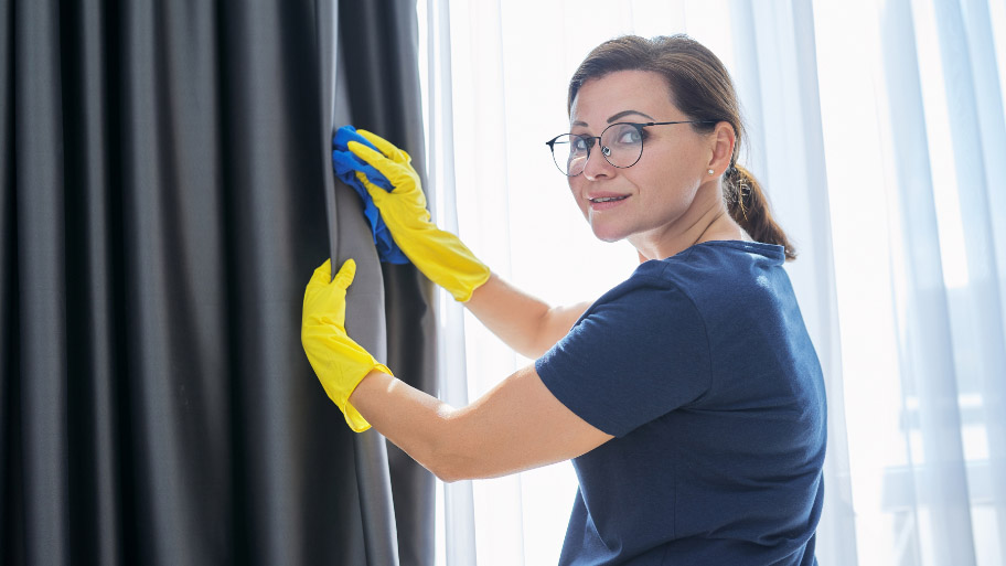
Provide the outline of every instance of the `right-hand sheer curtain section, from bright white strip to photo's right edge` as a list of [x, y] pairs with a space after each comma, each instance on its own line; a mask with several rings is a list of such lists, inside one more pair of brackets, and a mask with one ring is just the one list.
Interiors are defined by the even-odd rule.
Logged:
[[815, 8], [859, 546], [1006, 564], [1004, 4]]

